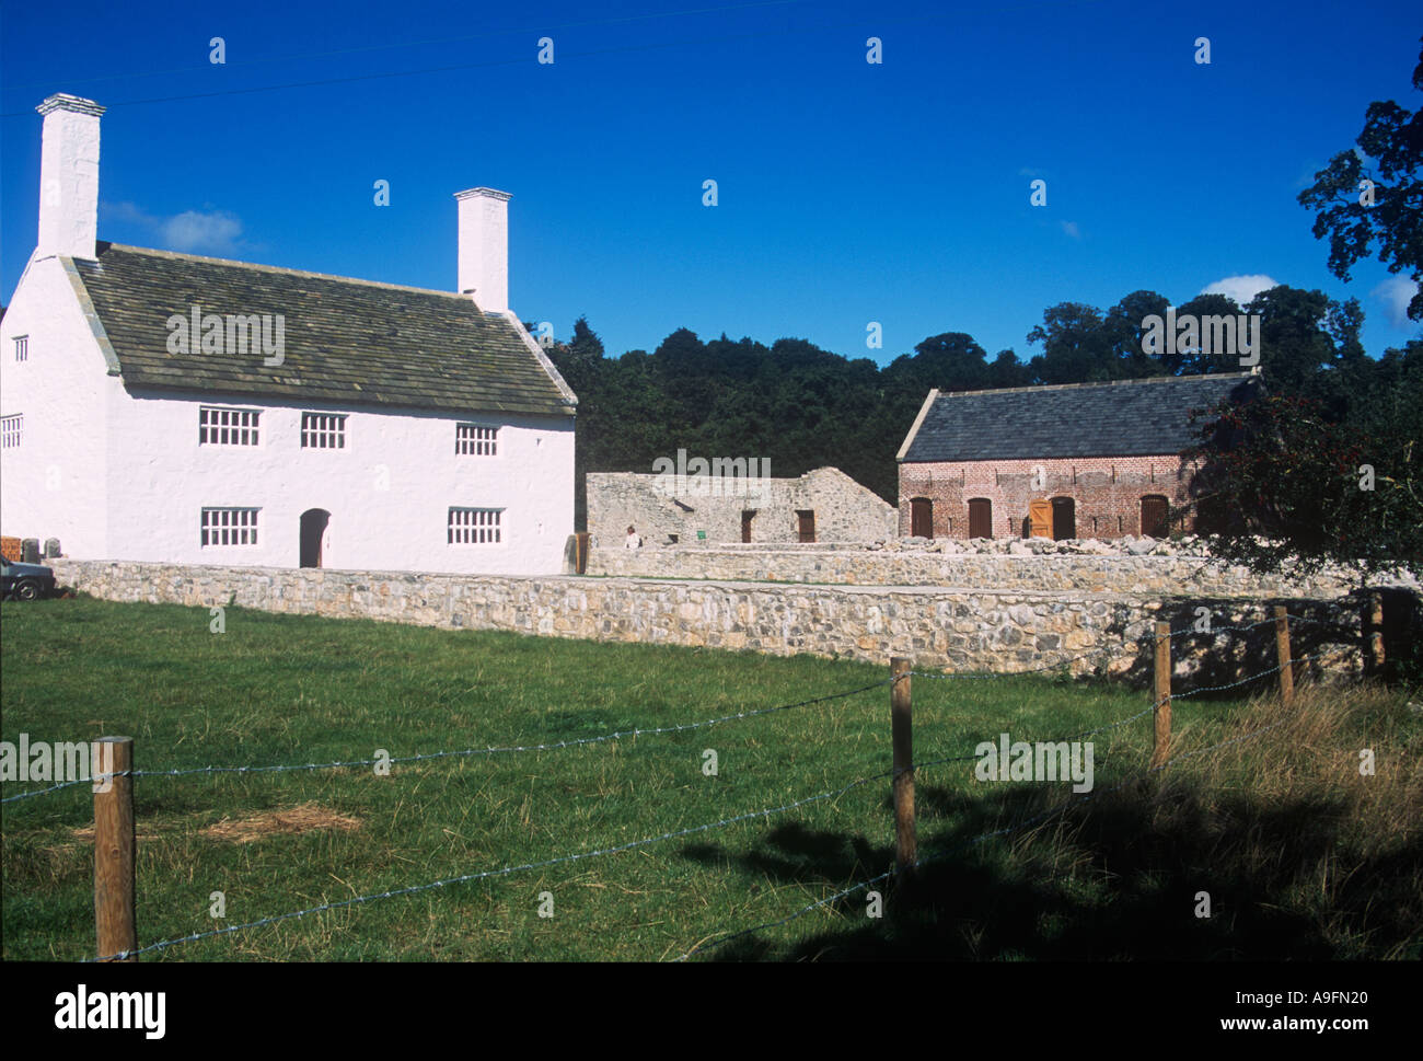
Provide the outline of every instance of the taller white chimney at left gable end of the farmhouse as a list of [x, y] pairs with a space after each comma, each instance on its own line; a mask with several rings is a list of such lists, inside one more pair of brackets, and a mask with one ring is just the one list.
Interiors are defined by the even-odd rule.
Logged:
[[98, 239], [98, 118], [92, 100], [57, 93], [36, 110], [40, 140], [40, 242], [36, 256], [95, 258]]

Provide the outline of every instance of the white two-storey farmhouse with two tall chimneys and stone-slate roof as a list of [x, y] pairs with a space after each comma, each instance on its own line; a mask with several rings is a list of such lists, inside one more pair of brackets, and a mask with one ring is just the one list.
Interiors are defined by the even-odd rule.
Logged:
[[51, 95], [0, 319], [0, 530], [80, 560], [562, 570], [578, 399], [508, 309], [508, 194], [460, 293], [98, 242], [104, 108]]

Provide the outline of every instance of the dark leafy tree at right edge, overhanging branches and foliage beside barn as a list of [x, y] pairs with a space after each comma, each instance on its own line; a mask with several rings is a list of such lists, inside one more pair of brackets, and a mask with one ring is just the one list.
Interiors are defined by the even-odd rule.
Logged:
[[[1413, 71], [1423, 91], [1423, 50]], [[1299, 202], [1318, 209], [1329, 268], [1343, 281], [1362, 258], [1423, 272], [1423, 110], [1369, 105], [1359, 151], [1315, 174]], [[1373, 168], [1365, 169], [1365, 158]], [[1212, 551], [1255, 571], [1352, 568], [1360, 582], [1423, 573], [1423, 343], [1379, 362], [1359, 340], [1363, 310], [1319, 291], [1278, 286], [1245, 306], [1259, 313], [1269, 396], [1218, 407], [1200, 424], [1192, 493]], [[1423, 320], [1423, 292], [1409, 305]]]

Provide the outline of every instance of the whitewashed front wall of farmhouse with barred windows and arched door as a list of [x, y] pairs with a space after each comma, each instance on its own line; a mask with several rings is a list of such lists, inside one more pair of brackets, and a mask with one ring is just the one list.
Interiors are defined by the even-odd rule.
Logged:
[[[201, 446], [203, 404], [260, 409], [260, 444]], [[302, 449], [303, 410], [346, 413], [346, 447]], [[498, 426], [497, 456], [457, 456], [457, 423]], [[556, 574], [573, 530], [571, 417], [125, 392], [110, 424], [110, 459], [124, 481], [110, 497], [107, 558], [296, 567], [302, 513], [324, 508], [323, 567]], [[260, 508], [258, 544], [203, 547], [201, 511], [213, 506]], [[501, 543], [448, 544], [451, 506], [504, 508]]]

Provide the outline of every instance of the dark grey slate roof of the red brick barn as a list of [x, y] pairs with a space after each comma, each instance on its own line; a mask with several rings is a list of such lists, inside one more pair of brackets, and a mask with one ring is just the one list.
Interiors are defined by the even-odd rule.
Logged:
[[899, 460], [1140, 457], [1192, 446], [1190, 412], [1249, 400], [1258, 376], [1160, 376], [1110, 383], [933, 392]]

